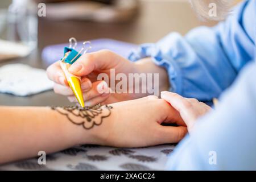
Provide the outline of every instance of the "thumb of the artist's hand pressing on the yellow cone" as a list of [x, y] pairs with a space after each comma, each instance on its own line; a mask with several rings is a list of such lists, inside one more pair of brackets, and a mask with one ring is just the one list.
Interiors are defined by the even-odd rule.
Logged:
[[[117, 59], [117, 57], [119, 59]], [[122, 59], [123, 57], [109, 50], [86, 53], [72, 64], [69, 68], [69, 72], [77, 76], [85, 76], [97, 69], [114, 68], [117, 61]]]

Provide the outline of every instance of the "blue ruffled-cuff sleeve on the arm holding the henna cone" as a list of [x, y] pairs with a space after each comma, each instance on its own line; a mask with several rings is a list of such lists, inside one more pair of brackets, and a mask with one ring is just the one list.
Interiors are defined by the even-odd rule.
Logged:
[[255, 10], [255, 1], [245, 1], [216, 27], [195, 28], [184, 37], [172, 32], [157, 43], [142, 44], [129, 60], [152, 57], [167, 70], [171, 92], [210, 101], [254, 59]]

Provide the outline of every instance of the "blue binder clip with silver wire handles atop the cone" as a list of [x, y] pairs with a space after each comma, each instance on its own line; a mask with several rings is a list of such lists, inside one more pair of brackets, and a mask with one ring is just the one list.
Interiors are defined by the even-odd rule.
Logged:
[[[85, 47], [86, 44], [89, 44], [89, 47], [86, 48]], [[75, 50], [76, 46], [77, 46], [77, 40], [75, 38], [70, 38], [69, 47], [64, 48], [63, 60], [65, 61], [65, 63], [69, 63], [69, 64], [75, 63], [76, 60], [79, 59], [79, 57], [82, 54], [86, 53], [89, 49], [92, 48], [91, 43], [89, 41], [82, 43], [82, 48], [79, 52]]]

